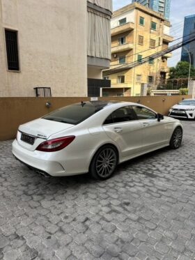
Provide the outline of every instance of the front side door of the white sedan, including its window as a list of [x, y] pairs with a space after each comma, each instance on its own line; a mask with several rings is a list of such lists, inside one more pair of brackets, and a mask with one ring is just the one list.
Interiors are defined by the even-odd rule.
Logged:
[[150, 151], [167, 143], [166, 122], [158, 121], [157, 114], [139, 105], [132, 106], [137, 119], [143, 125], [143, 150]]

